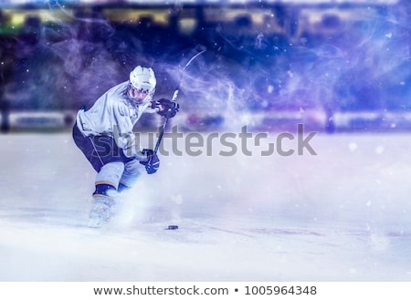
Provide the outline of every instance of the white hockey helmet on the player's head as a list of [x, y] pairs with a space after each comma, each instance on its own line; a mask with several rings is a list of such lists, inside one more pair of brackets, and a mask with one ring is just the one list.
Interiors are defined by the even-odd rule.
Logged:
[[142, 100], [136, 100], [131, 97], [138, 103], [146, 103], [153, 98], [156, 83], [157, 80], [151, 67], [134, 67], [132, 72], [130, 72], [129, 96], [132, 96], [132, 88], [139, 92], [147, 93], [147, 97]]

